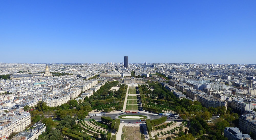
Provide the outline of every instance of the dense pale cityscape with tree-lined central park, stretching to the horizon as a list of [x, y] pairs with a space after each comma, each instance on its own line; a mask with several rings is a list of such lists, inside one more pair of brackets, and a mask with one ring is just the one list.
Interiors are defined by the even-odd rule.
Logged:
[[256, 65], [0, 63], [0, 139], [254, 139]]

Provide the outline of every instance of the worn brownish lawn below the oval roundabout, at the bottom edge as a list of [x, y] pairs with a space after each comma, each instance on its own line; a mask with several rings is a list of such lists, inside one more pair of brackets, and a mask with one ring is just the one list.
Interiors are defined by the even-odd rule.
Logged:
[[121, 139], [141, 139], [140, 127], [123, 126]]

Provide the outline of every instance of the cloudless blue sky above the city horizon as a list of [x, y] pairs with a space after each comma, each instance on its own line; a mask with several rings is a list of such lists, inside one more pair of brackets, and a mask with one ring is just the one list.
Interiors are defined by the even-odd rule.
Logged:
[[2, 63], [256, 63], [256, 1], [0, 1]]

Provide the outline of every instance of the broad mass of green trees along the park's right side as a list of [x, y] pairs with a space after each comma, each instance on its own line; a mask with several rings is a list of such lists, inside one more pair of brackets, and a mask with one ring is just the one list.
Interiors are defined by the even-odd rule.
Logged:
[[[189, 127], [189, 137], [197, 137], [198, 139], [226, 139], [222, 133], [225, 127], [235, 126], [238, 123], [239, 115], [237, 113], [232, 113], [232, 109], [225, 107], [217, 108], [205, 108], [202, 107], [201, 103], [194, 101], [194, 103], [186, 98], [178, 99], [172, 92], [165, 89], [159, 83], [148, 83], [148, 87], [153, 87], [154, 91], [150, 97], [145, 97], [146, 103], [148, 105], [163, 107], [164, 110], [174, 110], [178, 114], [182, 114], [180, 117], [182, 119], [190, 118]], [[145, 92], [147, 91], [144, 86]], [[158, 97], [158, 99], [155, 99]], [[206, 120], [209, 120], [212, 114], [220, 115], [220, 118], [215, 120], [215, 125], [208, 125]], [[225, 118], [225, 119], [223, 119]], [[204, 135], [207, 134], [207, 135]], [[185, 136], [182, 136], [185, 137]]]

